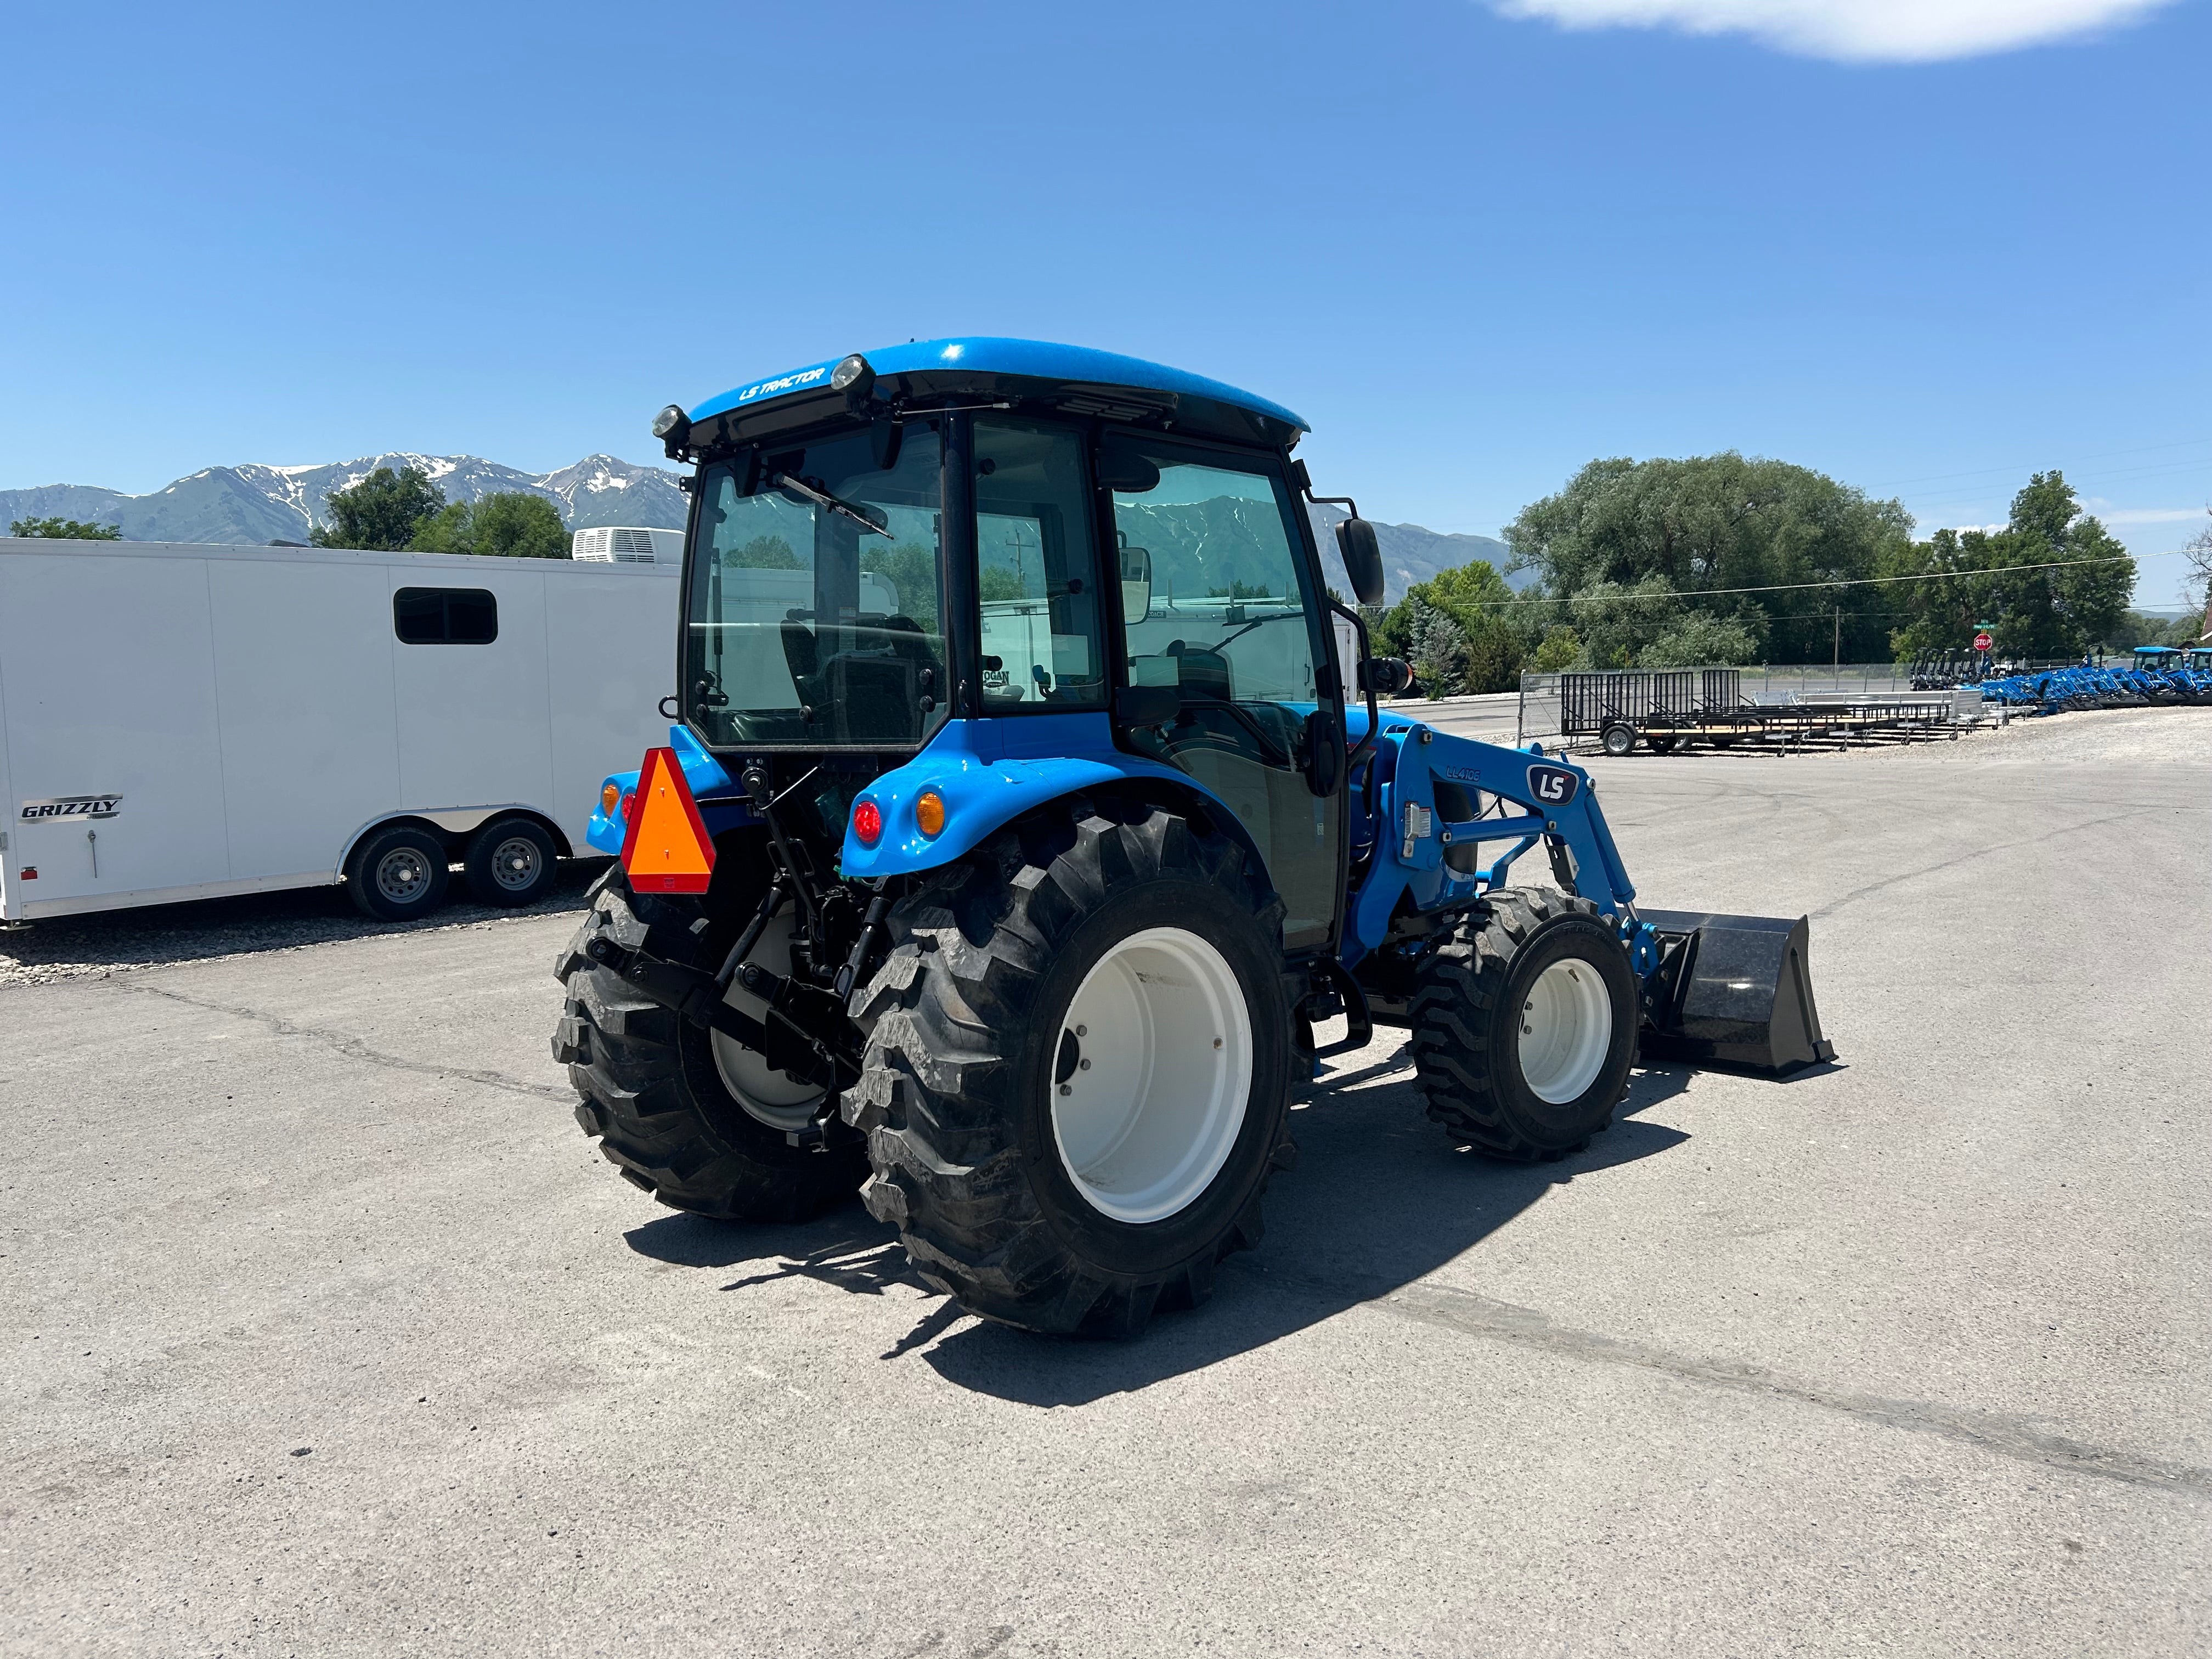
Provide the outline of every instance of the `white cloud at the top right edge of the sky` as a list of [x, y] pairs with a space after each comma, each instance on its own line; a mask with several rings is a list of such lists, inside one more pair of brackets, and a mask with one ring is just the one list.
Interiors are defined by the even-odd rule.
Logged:
[[1752, 35], [1807, 58], [1929, 64], [2135, 22], [2170, 0], [1491, 0], [1564, 29]]

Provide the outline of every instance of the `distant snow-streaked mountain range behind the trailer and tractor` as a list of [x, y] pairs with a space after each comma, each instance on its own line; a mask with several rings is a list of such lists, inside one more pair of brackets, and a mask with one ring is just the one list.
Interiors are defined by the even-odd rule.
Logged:
[[[230, 542], [265, 546], [270, 542], [305, 542], [307, 533], [330, 520], [330, 493], [367, 478], [376, 467], [418, 467], [449, 502], [473, 502], [498, 491], [544, 495], [571, 531], [597, 524], [639, 524], [646, 529], [684, 526], [684, 491], [677, 476], [661, 467], [637, 467], [613, 456], [584, 456], [573, 467], [551, 473], [526, 473], [478, 456], [416, 456], [394, 451], [363, 460], [334, 460], [323, 467], [204, 467], [146, 495], [124, 495], [95, 484], [42, 484], [38, 489], [0, 489], [0, 526], [20, 518], [75, 518], [93, 524], [115, 524], [126, 542]], [[1314, 533], [1334, 566], [1336, 538], [1332, 526], [1343, 513], [1334, 507], [1310, 507]], [[1489, 535], [1442, 535], [1420, 524], [1376, 524], [1383, 544], [1387, 599], [1405, 597], [1416, 582], [1449, 571], [1469, 560], [1489, 560], [1500, 571], [1506, 564], [1504, 542]], [[1515, 588], [1531, 573], [1506, 577]]]

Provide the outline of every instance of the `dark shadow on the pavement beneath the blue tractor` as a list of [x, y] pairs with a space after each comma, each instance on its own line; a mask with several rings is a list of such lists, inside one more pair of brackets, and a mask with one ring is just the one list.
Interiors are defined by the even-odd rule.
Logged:
[[[971, 1318], [914, 1274], [898, 1234], [858, 1203], [792, 1228], [661, 1217], [633, 1250], [686, 1267], [741, 1267], [726, 1292], [814, 1279], [854, 1296], [920, 1290], [927, 1312], [883, 1354], [920, 1358], [947, 1383], [1020, 1405], [1088, 1405], [1276, 1343], [1436, 1272], [1551, 1188], [1666, 1152], [1690, 1137], [1637, 1113], [1679, 1095], [1692, 1068], [1632, 1073], [1613, 1128], [1557, 1164], [1498, 1164], [1455, 1150], [1427, 1119], [1398, 1033], [1294, 1095], [1298, 1166], [1267, 1188], [1267, 1237], [1221, 1263], [1212, 1301], [1159, 1314], [1130, 1343], [1035, 1336]], [[905, 1301], [905, 1296], [900, 1296]]]

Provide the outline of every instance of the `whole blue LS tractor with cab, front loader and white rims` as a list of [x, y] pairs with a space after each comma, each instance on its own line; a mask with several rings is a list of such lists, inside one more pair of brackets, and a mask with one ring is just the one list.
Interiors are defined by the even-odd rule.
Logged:
[[[1502, 1159], [1582, 1148], [1639, 1037], [1832, 1057], [1803, 918], [1639, 911], [1586, 772], [1378, 714], [1405, 664], [1303, 500], [1363, 604], [1374, 526], [1290, 409], [964, 338], [653, 431], [695, 467], [679, 723], [602, 792], [553, 1051], [664, 1203], [863, 1188], [971, 1312], [1130, 1334], [1259, 1239], [1292, 1086], [1374, 1020]], [[1557, 889], [1509, 887], [1537, 843]]]

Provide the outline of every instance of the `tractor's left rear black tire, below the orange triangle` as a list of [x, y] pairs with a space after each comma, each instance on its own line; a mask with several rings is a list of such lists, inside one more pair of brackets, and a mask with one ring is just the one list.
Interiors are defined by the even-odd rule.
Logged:
[[[650, 900], [646, 900], [650, 902]], [[672, 1210], [723, 1221], [807, 1221], [867, 1179], [858, 1144], [805, 1150], [745, 1110], [714, 1062], [712, 1033], [648, 1002], [584, 956], [593, 938], [646, 942], [641, 900], [619, 872], [553, 964], [568, 993], [553, 1060], [568, 1066], [575, 1121], [622, 1177]]]

